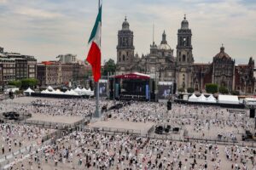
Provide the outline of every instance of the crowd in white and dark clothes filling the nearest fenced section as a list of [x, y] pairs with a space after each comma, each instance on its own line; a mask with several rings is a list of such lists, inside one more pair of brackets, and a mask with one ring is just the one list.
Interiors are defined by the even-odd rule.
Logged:
[[[256, 169], [256, 149], [73, 132], [9, 169]], [[22, 168], [21, 168], [22, 169]]]

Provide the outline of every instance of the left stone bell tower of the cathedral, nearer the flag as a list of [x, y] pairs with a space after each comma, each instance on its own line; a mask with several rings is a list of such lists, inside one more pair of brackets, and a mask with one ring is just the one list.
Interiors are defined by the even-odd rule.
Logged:
[[117, 73], [122, 74], [127, 71], [134, 58], [133, 31], [125, 17], [122, 30], [118, 33], [117, 45]]

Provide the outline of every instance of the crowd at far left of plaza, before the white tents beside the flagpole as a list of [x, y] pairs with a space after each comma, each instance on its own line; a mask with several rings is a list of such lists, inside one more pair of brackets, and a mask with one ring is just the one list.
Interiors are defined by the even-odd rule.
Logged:
[[[112, 101], [102, 100], [103, 105], [111, 105]], [[1, 107], [1, 105], [0, 105]], [[95, 109], [93, 99], [34, 99], [29, 103], [4, 103], [2, 111], [22, 113], [38, 113], [48, 116], [90, 116]]]

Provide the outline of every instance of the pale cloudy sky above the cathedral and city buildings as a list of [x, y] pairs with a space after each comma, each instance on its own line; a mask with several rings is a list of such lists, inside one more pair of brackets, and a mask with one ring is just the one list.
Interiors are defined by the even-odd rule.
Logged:
[[[97, 14], [97, 0], [0, 0], [0, 47], [34, 55], [38, 61], [59, 54], [85, 59]], [[116, 60], [117, 34], [125, 15], [134, 31], [135, 53], [148, 54], [153, 41], [176, 52], [177, 29], [187, 15], [196, 63], [212, 62], [221, 44], [236, 64], [256, 59], [255, 0], [103, 0], [102, 63]], [[176, 56], [176, 53], [174, 53]]]

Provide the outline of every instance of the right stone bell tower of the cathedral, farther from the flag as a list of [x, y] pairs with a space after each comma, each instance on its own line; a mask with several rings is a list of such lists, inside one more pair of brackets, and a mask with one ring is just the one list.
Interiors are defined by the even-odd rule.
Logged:
[[177, 31], [177, 88], [187, 89], [193, 87], [191, 72], [194, 58], [191, 37], [192, 32], [189, 29], [189, 21], [186, 20], [185, 15], [181, 23], [181, 28]]

